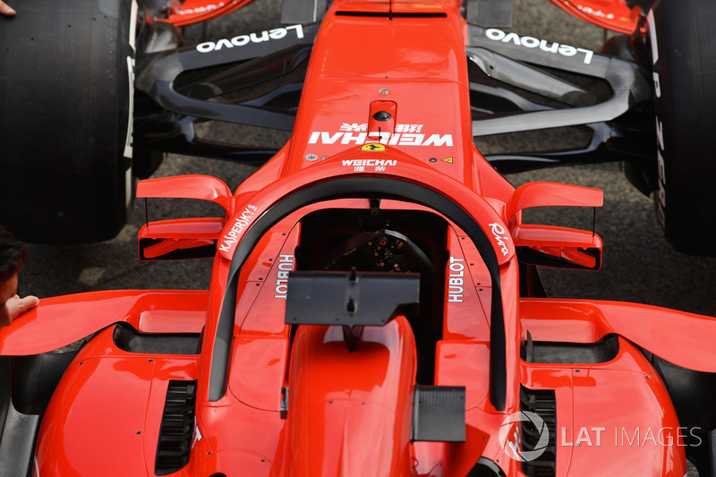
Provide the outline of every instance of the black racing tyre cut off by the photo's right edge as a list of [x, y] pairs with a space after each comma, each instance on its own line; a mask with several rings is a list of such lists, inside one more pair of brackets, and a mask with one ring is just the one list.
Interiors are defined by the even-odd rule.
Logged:
[[658, 0], [648, 25], [659, 146], [657, 215], [676, 250], [716, 255], [716, 3]]

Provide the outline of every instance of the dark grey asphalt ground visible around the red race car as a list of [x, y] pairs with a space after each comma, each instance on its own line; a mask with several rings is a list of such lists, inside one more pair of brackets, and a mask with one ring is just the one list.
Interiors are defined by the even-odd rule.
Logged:
[[[265, 30], [278, 26], [277, 1], [261, 0], [222, 19], [184, 30], [187, 44], [202, 38]], [[516, 0], [515, 30], [522, 35], [558, 41], [575, 47], [598, 49], [604, 30], [575, 20], [545, 0]], [[210, 124], [204, 133], [220, 137], [235, 130]], [[251, 132], [246, 138], [251, 138]], [[537, 135], [541, 140], [541, 135]], [[286, 134], [271, 138], [277, 144]], [[500, 140], [478, 141], [489, 152]], [[168, 155], [154, 175], [206, 174], [224, 180], [232, 189], [254, 169], [224, 161]], [[550, 296], [642, 302], [681, 311], [716, 316], [716, 259], [691, 257], [673, 251], [662, 238], [652, 199], [637, 192], [619, 164], [569, 166], [509, 175], [516, 186], [531, 181], [575, 183], [604, 191], [604, 207], [596, 218], [596, 231], [604, 241], [599, 272], [545, 268], [542, 278]], [[90, 200], [90, 198], [88, 198]], [[217, 208], [190, 200], [152, 200], [149, 219], [219, 215]], [[550, 210], [531, 216], [550, 225], [591, 228], [592, 211]], [[210, 260], [141, 262], [136, 234], [145, 221], [137, 201], [131, 223], [114, 240], [74, 246], [30, 244], [30, 259], [21, 272], [20, 294], [40, 298], [58, 294], [109, 289], [192, 289], [209, 284]], [[694, 226], [698, 226], [695, 224]], [[715, 240], [716, 242], [716, 240]]]

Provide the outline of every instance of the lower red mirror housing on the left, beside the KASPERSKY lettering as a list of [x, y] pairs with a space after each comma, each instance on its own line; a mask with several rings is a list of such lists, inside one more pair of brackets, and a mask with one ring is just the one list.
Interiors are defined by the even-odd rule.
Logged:
[[217, 253], [224, 226], [220, 217], [178, 218], [149, 222], [138, 234], [140, 260], [208, 259]]

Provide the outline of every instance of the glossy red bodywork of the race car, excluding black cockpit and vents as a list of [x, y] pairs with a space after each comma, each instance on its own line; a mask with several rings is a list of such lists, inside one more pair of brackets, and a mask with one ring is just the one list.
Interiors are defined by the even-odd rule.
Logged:
[[[624, 3], [590, 4], [621, 11]], [[686, 473], [683, 447], [625, 446], [620, 432], [678, 429], [669, 394], [637, 346], [715, 372], [716, 320], [630, 303], [521, 298], [516, 247], [567, 259], [567, 247], [601, 250], [592, 232], [524, 225], [522, 210], [600, 207], [601, 192], [554, 183], [515, 190], [473, 144], [459, 4], [396, 1], [392, 12], [401, 14], [392, 19], [387, 8], [331, 5], [291, 140], [234, 193], [206, 176], [140, 183], [139, 197], [210, 200], [226, 210], [142, 231], [157, 240], [216, 240], [208, 292], [46, 299], [0, 330], [4, 355], [46, 353], [97, 333], [47, 408], [38, 475], [154, 475], [170, 380], [197, 382], [191, 458], [176, 476], [465, 475], [481, 458], [523, 475], [507, 454], [512, 441], [499, 438], [521, 410], [522, 388], [554, 393], [556, 475]], [[380, 189], [378, 207], [341, 189], [356, 183], [396, 189]], [[391, 224], [414, 217], [401, 226], [437, 251], [434, 281], [421, 285], [427, 319], [400, 315], [366, 327], [352, 350], [340, 326], [287, 325], [289, 272], [320, 268], [316, 255], [343, 240], [333, 235], [356, 234], [334, 221], [376, 214]], [[157, 257], [171, 250], [155, 247]], [[201, 351], [125, 351], [117, 323], [149, 335], [203, 330]], [[427, 353], [426, 334], [438, 336]], [[572, 344], [616, 336], [618, 349], [603, 362], [530, 362], [521, 354], [528, 335]], [[495, 356], [504, 363], [496, 366]], [[465, 388], [464, 442], [411, 438], [426, 358], [427, 384]]]

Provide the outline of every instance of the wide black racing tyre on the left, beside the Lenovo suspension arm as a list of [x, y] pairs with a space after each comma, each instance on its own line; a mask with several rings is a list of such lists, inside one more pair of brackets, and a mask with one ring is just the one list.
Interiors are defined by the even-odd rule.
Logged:
[[136, 3], [13, 0], [0, 17], [0, 223], [33, 243], [114, 237], [132, 208]]

